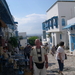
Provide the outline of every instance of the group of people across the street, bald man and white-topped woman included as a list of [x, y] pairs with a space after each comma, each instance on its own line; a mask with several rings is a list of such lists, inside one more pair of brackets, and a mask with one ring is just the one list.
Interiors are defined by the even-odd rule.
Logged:
[[[46, 75], [46, 69], [48, 68], [48, 53], [55, 56], [60, 75], [63, 75], [62, 71], [64, 69], [64, 60], [65, 60], [65, 52], [64, 52], [64, 42], [60, 42], [59, 45], [51, 48], [49, 52], [49, 48], [46, 43], [42, 45], [39, 39], [35, 40], [35, 46], [31, 47], [29, 44], [24, 48], [25, 59], [29, 59], [30, 69], [33, 69], [34, 75]], [[26, 62], [27, 66], [27, 62]]]

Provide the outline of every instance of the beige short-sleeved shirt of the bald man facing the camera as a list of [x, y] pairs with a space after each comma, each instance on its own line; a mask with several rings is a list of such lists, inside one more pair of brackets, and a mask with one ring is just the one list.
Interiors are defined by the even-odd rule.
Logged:
[[[37, 51], [40, 51], [40, 49], [37, 49]], [[33, 50], [31, 50], [30, 56], [32, 56], [33, 62], [36, 63], [44, 62], [45, 61], [44, 55], [47, 55], [46, 50], [41, 46], [41, 57], [42, 57], [41, 62], [38, 60], [38, 56], [40, 55], [37, 54], [37, 51], [36, 51], [36, 46], [33, 48]]]

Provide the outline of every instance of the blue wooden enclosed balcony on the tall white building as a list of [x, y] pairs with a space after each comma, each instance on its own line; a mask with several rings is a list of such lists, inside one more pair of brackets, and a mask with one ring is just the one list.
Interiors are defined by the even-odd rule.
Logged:
[[42, 29], [45, 31], [58, 29], [58, 16], [54, 16], [42, 23]]

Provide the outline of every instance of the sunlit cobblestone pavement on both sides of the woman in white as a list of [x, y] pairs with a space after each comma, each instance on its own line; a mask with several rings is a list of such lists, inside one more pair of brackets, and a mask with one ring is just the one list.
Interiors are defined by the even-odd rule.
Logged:
[[[59, 75], [58, 63], [55, 56], [48, 53], [49, 67], [47, 69], [47, 75]], [[75, 75], [75, 56], [68, 55], [67, 60], [64, 61], [64, 75]]]

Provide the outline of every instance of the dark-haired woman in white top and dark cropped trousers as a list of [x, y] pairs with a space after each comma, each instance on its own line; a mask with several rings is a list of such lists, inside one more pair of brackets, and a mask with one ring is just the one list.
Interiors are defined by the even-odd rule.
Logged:
[[64, 52], [64, 42], [59, 43], [59, 47], [57, 48], [56, 59], [59, 65], [59, 73], [63, 75], [63, 67], [64, 67], [64, 60], [65, 60], [65, 52]]

